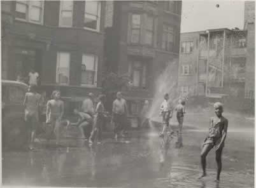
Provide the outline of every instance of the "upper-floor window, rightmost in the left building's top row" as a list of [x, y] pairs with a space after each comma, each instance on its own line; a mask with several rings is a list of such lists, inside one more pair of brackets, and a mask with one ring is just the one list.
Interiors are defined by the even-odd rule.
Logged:
[[86, 29], [99, 30], [101, 17], [101, 3], [99, 1], [85, 1], [85, 20], [83, 27]]

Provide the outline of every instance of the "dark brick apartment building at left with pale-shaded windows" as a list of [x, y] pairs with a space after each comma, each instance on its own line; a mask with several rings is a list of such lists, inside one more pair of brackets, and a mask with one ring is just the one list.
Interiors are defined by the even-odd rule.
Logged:
[[104, 1], [1, 1], [2, 79], [39, 72], [48, 95], [101, 92]]

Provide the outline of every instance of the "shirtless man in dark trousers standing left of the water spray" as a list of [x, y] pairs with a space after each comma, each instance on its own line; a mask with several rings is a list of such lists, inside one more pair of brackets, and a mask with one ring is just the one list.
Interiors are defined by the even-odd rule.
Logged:
[[122, 98], [122, 93], [117, 92], [117, 99], [113, 102], [113, 123], [115, 124], [114, 134], [117, 140], [118, 131], [120, 131], [121, 136], [124, 137], [124, 125], [127, 123], [127, 104], [124, 98]]

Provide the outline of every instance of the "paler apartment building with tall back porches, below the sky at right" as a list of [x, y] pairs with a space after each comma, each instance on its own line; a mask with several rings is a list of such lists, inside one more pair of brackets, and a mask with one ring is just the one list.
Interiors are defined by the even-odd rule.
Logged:
[[[220, 98], [229, 96], [244, 107], [254, 98], [254, 6], [245, 2], [245, 30], [211, 29], [181, 34], [180, 93]], [[249, 18], [249, 21], [246, 21]], [[243, 102], [241, 102], [243, 101]], [[243, 105], [241, 105], [243, 103]]]

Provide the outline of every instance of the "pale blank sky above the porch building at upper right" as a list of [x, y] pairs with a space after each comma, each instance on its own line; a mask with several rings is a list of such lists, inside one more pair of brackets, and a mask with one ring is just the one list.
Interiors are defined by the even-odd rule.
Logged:
[[224, 27], [243, 29], [244, 9], [245, 2], [238, 0], [182, 1], [181, 32]]

